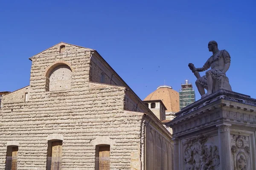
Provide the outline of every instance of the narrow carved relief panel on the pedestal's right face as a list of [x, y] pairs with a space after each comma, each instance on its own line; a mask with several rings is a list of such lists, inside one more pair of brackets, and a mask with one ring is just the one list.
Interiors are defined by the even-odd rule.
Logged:
[[231, 134], [231, 152], [234, 170], [251, 170], [248, 136]]

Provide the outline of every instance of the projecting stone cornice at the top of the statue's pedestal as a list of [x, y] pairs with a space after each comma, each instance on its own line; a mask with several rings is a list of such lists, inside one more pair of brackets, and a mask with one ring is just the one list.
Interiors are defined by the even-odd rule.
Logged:
[[167, 127], [172, 127], [173, 137], [186, 135], [202, 128], [231, 126], [231, 124], [236, 127], [248, 125], [247, 128], [255, 128], [256, 99], [220, 89], [185, 107], [176, 115], [176, 118], [165, 124]]

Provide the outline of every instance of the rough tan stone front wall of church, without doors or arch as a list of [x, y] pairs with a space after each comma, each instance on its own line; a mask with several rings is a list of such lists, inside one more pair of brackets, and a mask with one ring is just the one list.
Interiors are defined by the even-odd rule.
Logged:
[[[65, 51], [59, 53], [61, 45]], [[0, 170], [5, 169], [8, 145], [19, 147], [18, 170], [45, 170], [52, 139], [63, 141], [62, 170], [94, 170], [98, 144], [110, 145], [112, 170], [143, 169], [143, 112], [148, 108], [116, 77], [119, 86], [90, 82], [89, 75], [96, 81], [92, 72], [100, 67], [93, 69], [92, 54], [91, 49], [59, 43], [31, 58], [30, 86], [1, 97]], [[72, 70], [71, 89], [47, 92], [47, 75], [63, 63]], [[137, 112], [127, 111], [134, 105]], [[160, 123], [152, 126], [157, 129]], [[159, 133], [170, 138], [161, 128]]]

